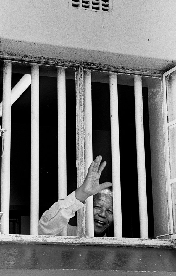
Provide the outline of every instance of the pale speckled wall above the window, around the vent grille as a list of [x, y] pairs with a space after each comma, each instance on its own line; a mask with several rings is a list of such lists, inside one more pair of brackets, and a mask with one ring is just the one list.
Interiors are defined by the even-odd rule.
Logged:
[[175, 0], [113, 0], [112, 13], [71, 0], [1, 0], [0, 36], [55, 46], [176, 60]]

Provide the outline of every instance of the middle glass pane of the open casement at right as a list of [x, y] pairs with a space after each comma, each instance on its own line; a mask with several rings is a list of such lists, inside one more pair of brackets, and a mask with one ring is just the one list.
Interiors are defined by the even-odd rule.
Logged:
[[171, 179], [176, 178], [176, 125], [168, 128]]

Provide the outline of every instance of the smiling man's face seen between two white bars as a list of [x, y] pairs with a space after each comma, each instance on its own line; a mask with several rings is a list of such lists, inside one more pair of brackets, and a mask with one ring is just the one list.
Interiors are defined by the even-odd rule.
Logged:
[[112, 197], [96, 194], [93, 197], [94, 233], [103, 233], [113, 222]]

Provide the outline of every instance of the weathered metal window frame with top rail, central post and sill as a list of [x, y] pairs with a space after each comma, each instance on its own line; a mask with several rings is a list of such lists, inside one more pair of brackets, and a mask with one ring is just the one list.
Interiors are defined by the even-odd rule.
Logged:
[[[2, 60], [2, 59], [1, 59]], [[52, 60], [52, 62], [43, 59], [32, 60], [26, 58], [16, 57], [4, 57], [4, 61], [10, 62], [25, 62], [38, 65], [50, 65], [56, 67], [67, 67], [74, 68], [76, 70], [76, 127], [77, 127], [77, 186], [79, 187], [85, 177], [85, 139], [84, 139], [84, 95], [83, 95], [83, 70], [89, 69], [91, 71], [99, 72], [111, 72], [120, 73], [125, 75], [134, 76], [148, 76], [162, 79], [162, 72], [156, 70], [150, 71], [138, 71], [134, 68], [114, 68], [106, 65], [99, 64], [77, 64], [67, 63], [66, 61]], [[59, 62], [58, 62], [59, 61]], [[58, 64], [59, 63], [59, 64]], [[107, 68], [109, 67], [109, 68]], [[64, 237], [64, 236], [35, 236], [35, 235], [12, 235], [12, 234], [1, 234], [0, 243], [36, 243], [36, 244], [74, 244], [74, 245], [109, 245], [109, 246], [133, 246], [133, 247], [162, 247], [162, 248], [176, 248], [175, 240], [167, 239], [140, 239], [140, 238], [116, 238], [116, 237], [86, 237], [85, 235], [85, 207], [78, 212], [78, 229], [77, 237]], [[82, 229], [82, 231], [80, 231]]]

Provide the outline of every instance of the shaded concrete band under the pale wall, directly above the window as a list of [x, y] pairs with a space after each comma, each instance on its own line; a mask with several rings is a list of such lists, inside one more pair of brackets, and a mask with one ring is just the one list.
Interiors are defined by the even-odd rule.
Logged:
[[176, 60], [163, 60], [108, 51], [86, 50], [11, 39], [0, 39], [1, 55], [20, 58], [46, 57], [67, 60], [73, 63], [97, 63], [115, 67], [139, 68], [143, 70], [167, 71], [176, 66]]

